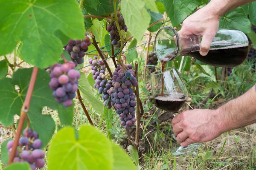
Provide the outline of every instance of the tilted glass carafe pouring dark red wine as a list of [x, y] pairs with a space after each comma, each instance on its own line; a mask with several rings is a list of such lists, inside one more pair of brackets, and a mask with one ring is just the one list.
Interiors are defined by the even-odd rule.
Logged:
[[161, 28], [155, 37], [154, 52], [161, 61], [172, 61], [175, 57], [190, 56], [208, 65], [236, 67], [241, 65], [249, 53], [249, 41], [238, 30], [218, 30], [206, 56], [199, 53], [202, 37], [182, 35], [170, 27]]

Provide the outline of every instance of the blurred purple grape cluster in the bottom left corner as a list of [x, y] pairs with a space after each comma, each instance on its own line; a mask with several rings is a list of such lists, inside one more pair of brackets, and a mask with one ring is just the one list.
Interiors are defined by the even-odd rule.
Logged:
[[[33, 132], [30, 128], [27, 130], [23, 130], [23, 136], [19, 140], [14, 162], [28, 162], [32, 170], [35, 170], [37, 167], [42, 168], [44, 167], [44, 151], [40, 148], [42, 147], [42, 141], [38, 139], [38, 133], [35, 131]], [[9, 149], [9, 155], [12, 151], [14, 141], [11, 140], [7, 143], [7, 148]]]

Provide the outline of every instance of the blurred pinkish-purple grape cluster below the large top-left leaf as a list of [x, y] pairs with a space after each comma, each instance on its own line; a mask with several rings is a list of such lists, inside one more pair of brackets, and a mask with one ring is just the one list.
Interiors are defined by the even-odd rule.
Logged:
[[72, 99], [76, 96], [78, 89], [78, 79], [81, 74], [75, 70], [74, 62], [66, 62], [63, 65], [56, 63], [51, 67], [50, 89], [53, 90], [55, 101], [62, 103], [64, 107], [70, 107], [73, 104]]

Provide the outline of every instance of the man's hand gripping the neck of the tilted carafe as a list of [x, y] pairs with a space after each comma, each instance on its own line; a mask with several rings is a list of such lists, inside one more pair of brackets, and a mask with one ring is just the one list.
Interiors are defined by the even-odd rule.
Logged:
[[200, 54], [207, 55], [213, 38], [215, 37], [220, 17], [215, 14], [215, 10], [205, 6], [199, 9], [194, 14], [187, 17], [183, 23], [182, 28], [178, 32], [183, 35], [198, 35], [203, 37], [201, 41]]

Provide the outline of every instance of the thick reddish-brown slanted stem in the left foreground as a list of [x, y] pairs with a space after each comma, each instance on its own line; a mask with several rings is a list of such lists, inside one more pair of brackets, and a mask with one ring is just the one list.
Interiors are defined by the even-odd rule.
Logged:
[[15, 157], [15, 153], [16, 153], [16, 150], [17, 150], [17, 145], [18, 145], [19, 139], [20, 139], [20, 134], [21, 134], [21, 131], [23, 129], [23, 125], [24, 125], [27, 113], [29, 111], [30, 100], [31, 100], [32, 93], [33, 93], [33, 90], [34, 90], [37, 73], [38, 73], [38, 68], [34, 67], [33, 72], [32, 72], [32, 76], [31, 76], [31, 79], [30, 79], [30, 82], [29, 82], [29, 88], [28, 88], [28, 91], [27, 91], [27, 94], [26, 94], [26, 99], [25, 99], [24, 104], [21, 108], [20, 121], [19, 121], [19, 124], [18, 124], [17, 132], [15, 134], [14, 143], [13, 143], [13, 146], [12, 146], [12, 152], [10, 153], [10, 156], [9, 156], [9, 159], [8, 159], [8, 165], [13, 162], [13, 159]]

